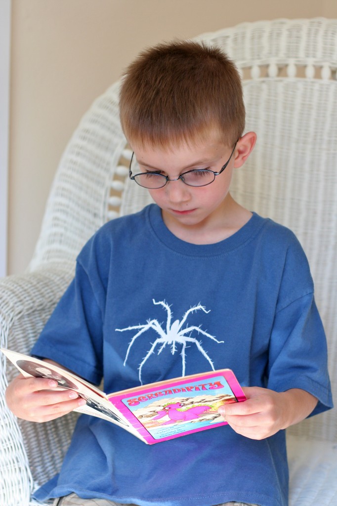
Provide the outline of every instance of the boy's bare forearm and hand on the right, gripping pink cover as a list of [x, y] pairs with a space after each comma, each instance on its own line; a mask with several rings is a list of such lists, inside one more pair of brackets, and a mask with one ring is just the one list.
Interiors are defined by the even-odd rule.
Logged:
[[219, 412], [235, 432], [250, 439], [264, 439], [297, 424], [317, 404], [316, 397], [298, 388], [286, 392], [260, 387], [242, 390], [246, 401], [221, 406]]

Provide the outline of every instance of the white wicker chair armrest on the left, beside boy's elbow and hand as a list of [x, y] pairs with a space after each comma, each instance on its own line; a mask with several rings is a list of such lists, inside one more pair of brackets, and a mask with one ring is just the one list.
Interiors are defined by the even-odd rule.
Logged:
[[[1, 279], [0, 345], [29, 353], [72, 275], [73, 265], [54, 264]], [[46, 424], [18, 420], [5, 402], [8, 383], [18, 371], [1, 355], [0, 504], [28, 506], [33, 488], [59, 471], [76, 415]]]

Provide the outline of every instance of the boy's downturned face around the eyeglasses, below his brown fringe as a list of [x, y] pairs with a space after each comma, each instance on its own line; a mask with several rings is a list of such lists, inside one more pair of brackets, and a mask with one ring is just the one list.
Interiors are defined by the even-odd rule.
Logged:
[[[233, 146], [209, 140], [203, 144], [182, 144], [171, 150], [160, 147], [133, 145], [140, 172], [160, 172], [176, 179], [193, 169], [219, 172], [231, 155]], [[236, 149], [225, 168], [213, 183], [202, 187], [186, 185], [182, 180], [168, 181], [163, 188], [148, 190], [162, 209], [164, 223], [173, 233], [186, 240], [202, 242], [198, 234], [221, 227], [228, 215], [232, 199], [229, 186], [232, 178]], [[193, 235], [194, 234], [194, 235]]]

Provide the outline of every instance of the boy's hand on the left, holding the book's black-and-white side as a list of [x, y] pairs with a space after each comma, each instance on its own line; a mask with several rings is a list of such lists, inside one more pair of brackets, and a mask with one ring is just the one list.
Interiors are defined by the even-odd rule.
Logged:
[[73, 390], [57, 389], [49, 378], [25, 378], [19, 374], [6, 390], [6, 401], [18, 418], [44, 422], [63, 416], [86, 404]]

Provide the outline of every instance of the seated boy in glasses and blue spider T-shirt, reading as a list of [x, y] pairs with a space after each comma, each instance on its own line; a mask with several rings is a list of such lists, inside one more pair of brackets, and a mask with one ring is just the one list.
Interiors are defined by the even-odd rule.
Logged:
[[[124, 77], [120, 117], [139, 164], [130, 178], [156, 204], [87, 243], [32, 353], [97, 385], [104, 376], [108, 392], [229, 367], [247, 401], [222, 411], [229, 426], [153, 446], [83, 415], [60, 475], [36, 497], [285, 506], [284, 429], [332, 406], [326, 343], [297, 239], [229, 193], [256, 142], [243, 135], [237, 70], [197, 43], [149, 49]], [[81, 403], [52, 387], [18, 376], [8, 404], [45, 421]]]

